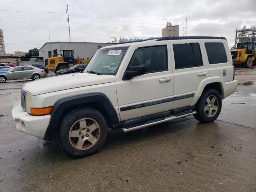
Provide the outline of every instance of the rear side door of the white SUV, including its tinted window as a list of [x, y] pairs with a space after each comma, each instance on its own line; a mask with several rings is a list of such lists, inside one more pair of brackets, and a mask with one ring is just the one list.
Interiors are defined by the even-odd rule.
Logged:
[[200, 82], [209, 77], [200, 40], [170, 41], [174, 80], [174, 106], [189, 106]]

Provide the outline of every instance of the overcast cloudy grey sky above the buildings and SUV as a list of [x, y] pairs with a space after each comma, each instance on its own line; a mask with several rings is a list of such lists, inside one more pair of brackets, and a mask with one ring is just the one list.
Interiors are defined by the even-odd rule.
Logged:
[[[225, 36], [256, 25], [256, 0], [0, 0], [0, 29], [6, 53], [28, 52], [45, 42], [110, 42], [110, 37], [162, 36], [166, 21], [180, 25], [180, 36]], [[183, 30], [184, 29], [184, 30]]]

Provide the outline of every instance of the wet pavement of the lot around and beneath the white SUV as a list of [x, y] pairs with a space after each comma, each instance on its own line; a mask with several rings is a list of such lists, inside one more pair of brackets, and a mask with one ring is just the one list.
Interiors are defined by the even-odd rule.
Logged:
[[255, 192], [256, 71], [239, 76], [215, 122], [190, 116], [126, 134], [109, 130], [102, 150], [82, 159], [18, 132], [11, 110], [24, 81], [0, 84], [0, 192]]

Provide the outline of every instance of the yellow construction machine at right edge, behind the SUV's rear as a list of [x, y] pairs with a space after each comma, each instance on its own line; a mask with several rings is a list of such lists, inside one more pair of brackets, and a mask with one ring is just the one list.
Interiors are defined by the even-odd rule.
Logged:
[[255, 64], [255, 42], [239, 42], [234, 48], [231, 50], [234, 66], [242, 64], [244, 67], [250, 68], [253, 63]]

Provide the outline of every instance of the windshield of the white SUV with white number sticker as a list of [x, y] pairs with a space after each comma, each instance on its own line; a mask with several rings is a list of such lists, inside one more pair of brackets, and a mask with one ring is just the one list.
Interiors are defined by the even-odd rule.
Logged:
[[128, 47], [114, 47], [98, 50], [86, 66], [84, 73], [115, 75], [127, 49]]

